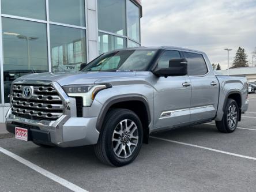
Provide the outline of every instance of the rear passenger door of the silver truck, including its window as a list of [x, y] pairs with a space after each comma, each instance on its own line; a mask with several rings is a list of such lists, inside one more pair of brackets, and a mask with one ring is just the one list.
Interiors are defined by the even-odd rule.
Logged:
[[212, 69], [206, 65], [206, 55], [183, 52], [188, 61], [188, 74], [192, 92], [190, 122], [212, 119], [216, 115], [219, 101], [219, 81]]

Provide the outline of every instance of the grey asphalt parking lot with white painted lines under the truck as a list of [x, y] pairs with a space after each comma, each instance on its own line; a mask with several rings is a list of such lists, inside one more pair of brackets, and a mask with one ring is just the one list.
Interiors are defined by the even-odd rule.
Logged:
[[0, 191], [256, 191], [256, 94], [249, 99], [234, 133], [210, 122], [154, 134], [120, 168], [101, 164], [92, 146], [45, 149], [3, 138]]

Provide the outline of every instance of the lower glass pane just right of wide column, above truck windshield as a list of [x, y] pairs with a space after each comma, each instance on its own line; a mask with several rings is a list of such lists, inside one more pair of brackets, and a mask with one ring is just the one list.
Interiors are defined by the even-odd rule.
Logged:
[[99, 33], [99, 54], [125, 47], [125, 38]]

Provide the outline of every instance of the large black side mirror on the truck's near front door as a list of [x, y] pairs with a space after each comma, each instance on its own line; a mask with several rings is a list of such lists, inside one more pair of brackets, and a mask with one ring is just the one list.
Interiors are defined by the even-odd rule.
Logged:
[[186, 76], [187, 74], [187, 59], [174, 58], [169, 61], [169, 68], [156, 69], [153, 71], [158, 77], [168, 76]]

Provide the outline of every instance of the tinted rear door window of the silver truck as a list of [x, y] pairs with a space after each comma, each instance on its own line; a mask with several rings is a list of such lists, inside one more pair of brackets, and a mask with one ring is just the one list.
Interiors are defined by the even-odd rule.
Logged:
[[201, 54], [192, 52], [184, 52], [184, 54], [188, 61], [189, 76], [202, 76], [208, 72], [205, 59]]

